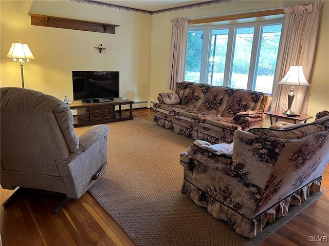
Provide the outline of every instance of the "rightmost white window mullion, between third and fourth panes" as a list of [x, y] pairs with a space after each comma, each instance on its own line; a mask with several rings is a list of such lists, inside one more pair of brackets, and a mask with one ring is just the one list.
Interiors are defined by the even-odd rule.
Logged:
[[253, 80], [255, 76], [255, 64], [257, 61], [257, 57], [259, 54], [259, 49], [261, 47], [260, 44], [260, 25], [254, 25], [253, 39], [252, 39], [252, 48], [251, 48], [251, 57], [250, 57], [250, 66], [249, 66], [249, 74], [248, 74], [248, 83], [247, 90], [253, 90]]

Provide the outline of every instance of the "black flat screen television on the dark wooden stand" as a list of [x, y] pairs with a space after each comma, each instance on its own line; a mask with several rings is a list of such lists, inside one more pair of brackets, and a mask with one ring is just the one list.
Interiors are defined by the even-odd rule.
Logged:
[[84, 103], [119, 97], [119, 72], [72, 71], [73, 99]]

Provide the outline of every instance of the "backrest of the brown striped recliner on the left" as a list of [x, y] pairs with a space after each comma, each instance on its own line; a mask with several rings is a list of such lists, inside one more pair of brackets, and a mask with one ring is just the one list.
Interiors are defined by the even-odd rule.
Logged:
[[38, 91], [0, 91], [2, 169], [59, 176], [56, 160], [79, 148], [69, 107]]

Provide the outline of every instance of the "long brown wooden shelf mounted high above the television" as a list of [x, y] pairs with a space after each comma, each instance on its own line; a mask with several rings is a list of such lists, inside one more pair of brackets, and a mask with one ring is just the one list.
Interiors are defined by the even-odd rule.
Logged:
[[72, 30], [81, 30], [89, 32], [115, 33], [115, 27], [118, 25], [88, 22], [87, 20], [67, 19], [40, 14], [29, 14], [31, 16], [32, 26], [56, 27]]

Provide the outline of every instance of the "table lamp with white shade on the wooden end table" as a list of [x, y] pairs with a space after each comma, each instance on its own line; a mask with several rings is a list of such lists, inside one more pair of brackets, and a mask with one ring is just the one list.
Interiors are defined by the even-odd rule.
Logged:
[[288, 94], [288, 109], [283, 114], [294, 114], [290, 109], [295, 98], [294, 86], [310, 86], [304, 76], [302, 66], [290, 66], [286, 76], [278, 84], [291, 86], [290, 93]]

